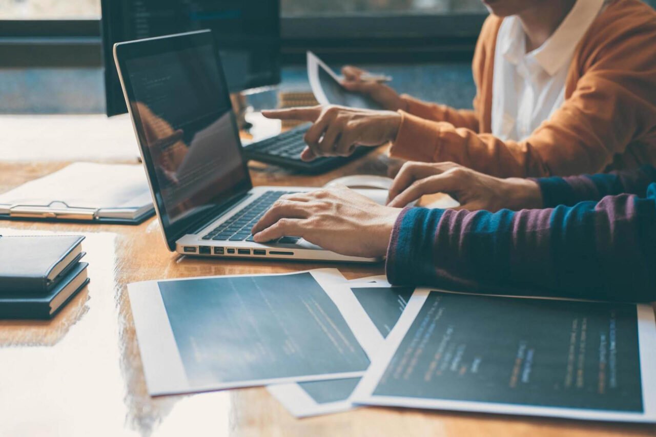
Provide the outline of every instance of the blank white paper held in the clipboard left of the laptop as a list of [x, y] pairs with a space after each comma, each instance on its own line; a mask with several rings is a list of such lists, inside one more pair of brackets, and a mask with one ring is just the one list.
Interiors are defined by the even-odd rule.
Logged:
[[123, 217], [152, 209], [142, 165], [73, 163], [42, 178], [0, 194], [0, 213], [11, 205], [104, 209], [103, 217]]

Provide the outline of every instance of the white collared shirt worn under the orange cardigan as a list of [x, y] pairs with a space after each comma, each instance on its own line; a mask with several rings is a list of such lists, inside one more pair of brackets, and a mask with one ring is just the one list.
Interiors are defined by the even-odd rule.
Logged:
[[549, 39], [529, 53], [518, 16], [503, 19], [492, 82], [493, 135], [521, 141], [563, 104], [574, 51], [603, 5], [604, 0], [577, 0]]

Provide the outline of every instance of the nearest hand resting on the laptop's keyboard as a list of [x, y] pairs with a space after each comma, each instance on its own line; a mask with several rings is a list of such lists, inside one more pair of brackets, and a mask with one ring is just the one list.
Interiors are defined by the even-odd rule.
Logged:
[[258, 243], [295, 236], [342, 255], [382, 257], [400, 212], [337, 186], [282, 196], [252, 232]]

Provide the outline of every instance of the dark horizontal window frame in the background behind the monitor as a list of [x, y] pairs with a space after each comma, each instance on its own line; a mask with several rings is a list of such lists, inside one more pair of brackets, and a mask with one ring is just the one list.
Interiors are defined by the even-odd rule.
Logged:
[[[283, 64], [471, 60], [487, 14], [282, 16]], [[0, 20], [0, 68], [102, 66], [100, 20]]]

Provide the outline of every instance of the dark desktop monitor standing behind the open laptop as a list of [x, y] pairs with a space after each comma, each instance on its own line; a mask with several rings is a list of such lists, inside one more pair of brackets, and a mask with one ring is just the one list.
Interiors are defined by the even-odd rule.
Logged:
[[127, 112], [114, 43], [211, 29], [231, 93], [280, 81], [279, 0], [101, 0], [107, 115]]

